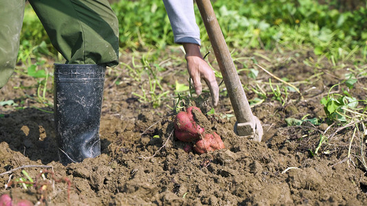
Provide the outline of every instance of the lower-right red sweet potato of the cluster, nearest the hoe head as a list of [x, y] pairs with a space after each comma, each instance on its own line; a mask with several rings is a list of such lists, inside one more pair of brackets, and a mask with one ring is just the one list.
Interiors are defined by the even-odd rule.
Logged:
[[220, 136], [214, 132], [213, 134], [205, 134], [205, 137], [196, 141], [193, 150], [202, 154], [223, 148], [224, 144], [222, 139], [220, 139]]

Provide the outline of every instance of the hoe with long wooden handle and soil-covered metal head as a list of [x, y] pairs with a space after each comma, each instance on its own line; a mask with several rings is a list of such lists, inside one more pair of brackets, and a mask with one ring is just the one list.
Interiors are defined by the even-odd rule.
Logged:
[[250, 137], [254, 141], [261, 141], [263, 130], [258, 117], [255, 117], [251, 112], [246, 94], [242, 88], [242, 83], [238, 77], [235, 65], [229, 53], [227, 43], [224, 41], [224, 36], [220, 30], [216, 14], [209, 0], [196, 0], [202, 21], [209, 36], [209, 40], [213, 47], [214, 54], [222, 73], [224, 84], [226, 85], [229, 99], [235, 113], [237, 122], [234, 126], [234, 131], [239, 136]]

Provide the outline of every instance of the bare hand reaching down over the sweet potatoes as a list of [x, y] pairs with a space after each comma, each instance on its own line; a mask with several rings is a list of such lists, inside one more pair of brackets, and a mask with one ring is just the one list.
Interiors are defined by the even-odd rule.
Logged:
[[219, 87], [214, 71], [202, 58], [199, 45], [183, 43], [183, 46], [186, 52], [187, 71], [189, 71], [189, 75], [193, 80], [193, 87], [195, 88], [196, 94], [201, 94], [201, 79], [204, 79], [209, 87], [213, 106], [217, 106], [219, 100]]

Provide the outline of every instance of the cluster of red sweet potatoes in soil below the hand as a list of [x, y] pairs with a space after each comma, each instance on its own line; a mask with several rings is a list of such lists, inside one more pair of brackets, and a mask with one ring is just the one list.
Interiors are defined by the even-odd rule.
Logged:
[[188, 143], [184, 150], [189, 152], [193, 148], [194, 151], [202, 154], [224, 148], [223, 141], [216, 132], [207, 133], [205, 128], [196, 122], [193, 116], [194, 110], [201, 113], [200, 108], [190, 106], [186, 112], [178, 113], [174, 120], [176, 138]]

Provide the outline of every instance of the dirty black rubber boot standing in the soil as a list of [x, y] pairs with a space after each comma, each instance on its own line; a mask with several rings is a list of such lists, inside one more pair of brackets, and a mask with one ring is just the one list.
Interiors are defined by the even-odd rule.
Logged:
[[63, 165], [101, 155], [104, 80], [105, 66], [55, 64], [55, 130]]

